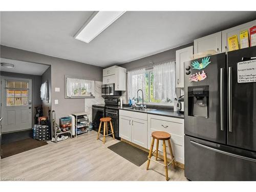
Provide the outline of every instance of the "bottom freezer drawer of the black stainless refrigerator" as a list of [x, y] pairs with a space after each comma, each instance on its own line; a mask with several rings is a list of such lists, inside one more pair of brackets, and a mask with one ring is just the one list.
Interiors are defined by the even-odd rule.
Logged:
[[185, 177], [192, 181], [256, 181], [256, 153], [185, 136]]

